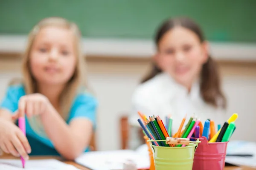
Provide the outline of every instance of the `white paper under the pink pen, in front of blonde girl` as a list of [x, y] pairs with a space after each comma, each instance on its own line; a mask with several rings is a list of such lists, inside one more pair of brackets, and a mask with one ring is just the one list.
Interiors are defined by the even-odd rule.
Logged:
[[0, 170], [78, 170], [56, 159], [28, 160], [23, 169], [19, 159], [0, 159]]

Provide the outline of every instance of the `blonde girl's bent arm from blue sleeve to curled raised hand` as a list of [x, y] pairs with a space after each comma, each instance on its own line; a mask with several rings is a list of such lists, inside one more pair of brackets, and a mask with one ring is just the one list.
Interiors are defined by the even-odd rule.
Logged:
[[47, 136], [66, 159], [75, 159], [88, 146], [95, 122], [96, 100], [80, 95], [70, 112], [69, 125], [42, 94], [22, 96], [13, 118], [40, 115]]

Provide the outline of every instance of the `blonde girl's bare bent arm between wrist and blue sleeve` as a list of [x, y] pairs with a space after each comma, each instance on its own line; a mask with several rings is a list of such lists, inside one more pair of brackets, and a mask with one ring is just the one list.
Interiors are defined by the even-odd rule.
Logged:
[[90, 143], [93, 124], [89, 119], [76, 118], [67, 125], [52, 107], [50, 111], [41, 114], [41, 120], [55, 149], [66, 159], [75, 159]]

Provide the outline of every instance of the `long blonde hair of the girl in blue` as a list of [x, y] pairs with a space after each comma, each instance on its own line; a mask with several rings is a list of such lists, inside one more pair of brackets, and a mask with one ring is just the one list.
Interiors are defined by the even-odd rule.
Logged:
[[[26, 51], [23, 56], [22, 71], [23, 71], [23, 85], [25, 88], [26, 94], [33, 94], [37, 92], [36, 80], [33, 78], [29, 62], [30, 62], [30, 53], [32, 45], [35, 41], [36, 36], [38, 35], [41, 28], [47, 26], [56, 26], [61, 28], [67, 28], [73, 31], [75, 37], [75, 49], [76, 49], [76, 68], [73, 76], [67, 82], [64, 90], [60, 96], [60, 106], [61, 106], [61, 117], [65, 120], [68, 119], [69, 111], [73, 102], [74, 97], [76, 96], [79, 87], [86, 87], [84, 68], [85, 68], [85, 59], [81, 51], [81, 34], [78, 26], [75, 23], [69, 22], [64, 18], [60, 17], [49, 17], [41, 20], [32, 31], [29, 33], [28, 44], [26, 46]], [[82, 90], [82, 89], [81, 89]], [[41, 125], [41, 121], [38, 117], [29, 118], [30, 126], [35, 130], [39, 135], [46, 136], [44, 128]]]

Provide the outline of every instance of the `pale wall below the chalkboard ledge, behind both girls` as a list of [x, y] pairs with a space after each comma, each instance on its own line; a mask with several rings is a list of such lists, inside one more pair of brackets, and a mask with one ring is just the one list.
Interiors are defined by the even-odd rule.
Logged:
[[[148, 62], [88, 62], [90, 86], [99, 100], [97, 147], [99, 150], [120, 148], [119, 117], [128, 113], [131, 95]], [[7, 66], [11, 68], [7, 68]], [[232, 67], [231, 67], [232, 68]], [[240, 69], [240, 70], [239, 70]], [[20, 76], [20, 62], [0, 60], [0, 98], [10, 79]], [[237, 71], [234, 73], [234, 70]], [[233, 139], [256, 142], [256, 69], [221, 67], [228, 114], [239, 113]], [[255, 71], [254, 74], [252, 72]]]

